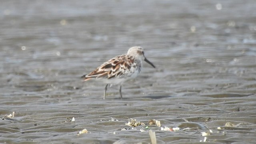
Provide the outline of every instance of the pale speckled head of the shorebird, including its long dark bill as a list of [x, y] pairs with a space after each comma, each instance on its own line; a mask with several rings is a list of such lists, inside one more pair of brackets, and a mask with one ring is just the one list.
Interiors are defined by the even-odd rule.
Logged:
[[154, 68], [156, 68], [154, 66], [154, 64], [152, 64], [150, 61], [148, 61], [148, 59], [146, 59], [146, 57], [144, 56], [144, 49], [140, 46], [133, 46], [133, 47], [129, 48], [127, 54], [130, 55], [130, 56], [134, 56], [135, 58], [145, 60], [145, 62], [147, 62], [148, 64], [150, 64]]

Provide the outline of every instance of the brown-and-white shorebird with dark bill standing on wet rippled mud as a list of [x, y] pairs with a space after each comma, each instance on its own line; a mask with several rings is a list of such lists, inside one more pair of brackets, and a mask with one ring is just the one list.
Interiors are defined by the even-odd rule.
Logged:
[[127, 54], [111, 58], [96, 68], [96, 70], [83, 75], [82, 78], [84, 78], [84, 81], [95, 78], [107, 84], [105, 86], [103, 99], [106, 98], [108, 84], [120, 84], [119, 92], [122, 99], [122, 84], [138, 76], [142, 68], [142, 60], [156, 68], [154, 64], [144, 56], [144, 49], [140, 46], [134, 46], [128, 50]]

